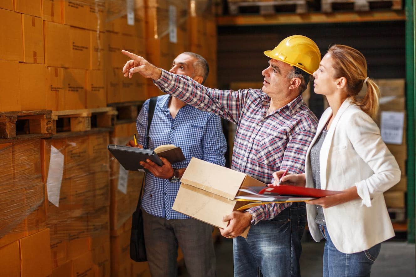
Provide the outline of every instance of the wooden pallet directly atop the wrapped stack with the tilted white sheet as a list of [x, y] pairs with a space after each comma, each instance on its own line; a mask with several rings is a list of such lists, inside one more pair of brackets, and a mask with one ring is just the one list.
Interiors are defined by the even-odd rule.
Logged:
[[[93, 129], [112, 129], [115, 124], [117, 111], [111, 107], [95, 109], [79, 109], [52, 112], [52, 135], [56, 137], [71, 135], [67, 133], [84, 134]], [[65, 133], [65, 134], [61, 134]]]

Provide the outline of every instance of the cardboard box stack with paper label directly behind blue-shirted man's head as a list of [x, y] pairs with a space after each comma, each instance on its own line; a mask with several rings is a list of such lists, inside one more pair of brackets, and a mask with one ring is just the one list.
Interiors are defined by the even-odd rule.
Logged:
[[[146, 59], [169, 70], [175, 57], [189, 51], [188, 1], [146, 0]], [[148, 80], [149, 97], [160, 90]]]

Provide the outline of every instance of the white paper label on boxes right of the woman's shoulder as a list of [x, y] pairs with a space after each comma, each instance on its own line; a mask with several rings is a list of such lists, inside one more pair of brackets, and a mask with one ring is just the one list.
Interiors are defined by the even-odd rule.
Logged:
[[404, 112], [381, 111], [381, 138], [385, 143], [403, 143]]

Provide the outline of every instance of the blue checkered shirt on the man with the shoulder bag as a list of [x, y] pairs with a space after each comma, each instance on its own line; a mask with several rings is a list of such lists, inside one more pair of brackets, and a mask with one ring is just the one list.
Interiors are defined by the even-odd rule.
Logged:
[[[181, 147], [186, 160], [173, 163], [172, 166], [176, 168], [186, 168], [192, 157], [224, 166], [227, 144], [220, 118], [186, 105], [173, 119], [168, 109], [170, 97], [158, 96], [149, 131], [149, 145], [146, 141], [149, 100], [144, 102], [136, 121], [138, 143], [148, 149], [163, 144]], [[151, 173], [146, 173], [145, 182], [141, 206], [147, 213], [166, 219], [189, 218], [172, 210], [180, 182], [171, 183], [168, 179], [157, 178]]]

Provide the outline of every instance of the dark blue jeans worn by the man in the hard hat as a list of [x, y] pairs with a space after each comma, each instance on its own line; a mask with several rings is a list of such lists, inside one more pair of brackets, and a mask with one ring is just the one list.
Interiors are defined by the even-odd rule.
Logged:
[[305, 203], [294, 203], [271, 220], [252, 225], [247, 239], [233, 239], [234, 276], [300, 276]]

